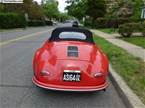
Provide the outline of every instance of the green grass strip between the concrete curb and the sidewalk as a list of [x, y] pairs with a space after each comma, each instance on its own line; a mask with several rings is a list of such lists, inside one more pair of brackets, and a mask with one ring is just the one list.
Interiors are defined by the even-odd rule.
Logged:
[[112, 67], [145, 103], [145, 62], [103, 38], [94, 36], [96, 44], [108, 55]]

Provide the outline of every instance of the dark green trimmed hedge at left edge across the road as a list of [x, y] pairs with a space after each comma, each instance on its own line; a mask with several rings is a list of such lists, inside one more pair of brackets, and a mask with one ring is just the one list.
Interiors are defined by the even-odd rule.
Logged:
[[0, 13], [0, 28], [23, 28], [27, 22], [24, 15], [18, 13]]

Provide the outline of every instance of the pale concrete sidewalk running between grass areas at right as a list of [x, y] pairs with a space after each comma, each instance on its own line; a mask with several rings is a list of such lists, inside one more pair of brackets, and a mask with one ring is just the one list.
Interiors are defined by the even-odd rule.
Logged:
[[132, 55], [139, 57], [145, 61], [145, 49], [143, 49], [139, 46], [130, 44], [128, 42], [125, 42], [123, 40], [117, 39], [113, 35], [101, 32], [99, 30], [92, 30], [92, 32], [94, 32], [97, 36], [100, 36], [100, 37], [106, 39], [107, 41], [111, 42], [112, 44], [125, 49], [127, 52], [129, 52]]

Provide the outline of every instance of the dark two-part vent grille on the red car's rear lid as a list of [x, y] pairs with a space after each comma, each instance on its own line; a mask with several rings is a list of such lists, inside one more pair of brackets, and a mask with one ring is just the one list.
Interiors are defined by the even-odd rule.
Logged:
[[78, 47], [77, 46], [68, 46], [67, 47], [67, 56], [68, 57], [78, 57]]

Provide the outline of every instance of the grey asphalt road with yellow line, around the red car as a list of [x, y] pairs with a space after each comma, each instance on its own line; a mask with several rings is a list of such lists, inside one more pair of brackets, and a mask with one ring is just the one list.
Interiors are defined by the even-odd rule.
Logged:
[[111, 83], [106, 92], [93, 93], [50, 91], [32, 83], [34, 52], [52, 28], [0, 33], [0, 108], [126, 108]]

